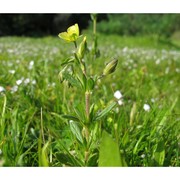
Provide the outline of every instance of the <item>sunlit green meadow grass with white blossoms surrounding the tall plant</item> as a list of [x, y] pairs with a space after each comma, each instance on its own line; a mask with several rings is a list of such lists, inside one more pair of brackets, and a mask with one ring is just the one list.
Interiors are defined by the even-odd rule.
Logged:
[[[99, 82], [91, 102], [101, 110], [116, 90], [124, 101], [103, 117], [102, 130], [115, 139], [127, 166], [179, 166], [180, 51], [152, 37], [98, 40], [101, 56], [88, 62], [89, 73], [100, 74], [113, 57], [119, 63]], [[58, 37], [0, 38], [1, 166], [98, 166], [101, 136], [84, 163], [85, 150], [77, 149], [62, 117], [84, 102], [79, 89], [66, 90], [58, 79], [72, 49]]]

